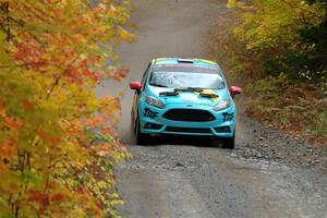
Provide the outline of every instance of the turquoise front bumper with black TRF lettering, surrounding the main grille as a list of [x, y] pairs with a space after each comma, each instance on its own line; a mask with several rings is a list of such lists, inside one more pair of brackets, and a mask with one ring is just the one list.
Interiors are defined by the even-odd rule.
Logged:
[[[215, 120], [205, 122], [175, 121], [164, 118], [171, 109], [196, 109], [210, 112]], [[167, 105], [165, 109], [144, 104], [138, 107], [141, 133], [144, 134], [178, 134], [203, 135], [214, 137], [232, 137], [235, 129], [235, 107], [232, 105], [221, 111], [215, 111], [210, 106], [193, 105], [192, 108], [184, 104]]]

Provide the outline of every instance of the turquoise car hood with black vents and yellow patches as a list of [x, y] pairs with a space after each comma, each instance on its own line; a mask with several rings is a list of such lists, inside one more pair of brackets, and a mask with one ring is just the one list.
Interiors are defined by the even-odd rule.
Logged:
[[180, 92], [178, 96], [160, 96], [164, 92], [173, 92], [173, 88], [154, 87], [149, 86], [148, 92], [150, 95], [156, 96], [165, 105], [169, 104], [192, 104], [192, 105], [206, 105], [216, 106], [221, 99], [230, 98], [229, 90], [227, 89], [204, 89], [205, 94], [216, 94], [217, 98], [202, 97], [198, 92]]

